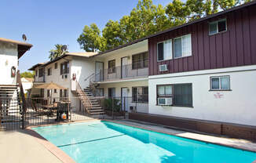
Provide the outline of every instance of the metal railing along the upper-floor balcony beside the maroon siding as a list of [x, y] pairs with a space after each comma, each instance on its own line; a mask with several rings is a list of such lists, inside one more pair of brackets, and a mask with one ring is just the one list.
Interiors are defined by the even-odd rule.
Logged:
[[96, 72], [90, 82], [112, 82], [148, 77], [148, 60]]

